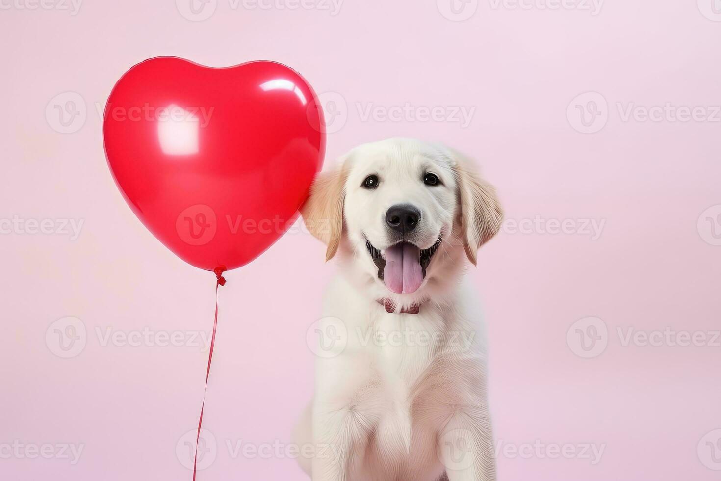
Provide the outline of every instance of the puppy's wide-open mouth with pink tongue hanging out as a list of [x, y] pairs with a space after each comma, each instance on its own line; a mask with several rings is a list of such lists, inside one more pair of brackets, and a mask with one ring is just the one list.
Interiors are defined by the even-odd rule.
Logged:
[[441, 245], [441, 237], [428, 249], [421, 250], [410, 242], [399, 242], [381, 252], [366, 238], [366, 248], [378, 268], [378, 278], [397, 294], [411, 294], [418, 290], [425, 278], [430, 259]]

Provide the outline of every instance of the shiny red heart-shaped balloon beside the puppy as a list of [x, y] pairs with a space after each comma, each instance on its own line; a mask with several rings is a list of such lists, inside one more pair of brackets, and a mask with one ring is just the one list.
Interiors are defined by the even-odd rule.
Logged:
[[322, 123], [313, 89], [280, 63], [162, 57], [112, 89], [103, 139], [120, 192], [154, 236], [198, 268], [229, 270], [296, 220], [323, 164]]

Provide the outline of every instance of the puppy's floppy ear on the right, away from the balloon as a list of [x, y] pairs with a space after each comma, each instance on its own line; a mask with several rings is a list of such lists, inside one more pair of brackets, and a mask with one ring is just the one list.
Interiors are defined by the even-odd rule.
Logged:
[[473, 172], [469, 161], [453, 152], [458, 182], [461, 231], [468, 260], [476, 265], [477, 251], [495, 236], [503, 222], [503, 208], [495, 187]]

